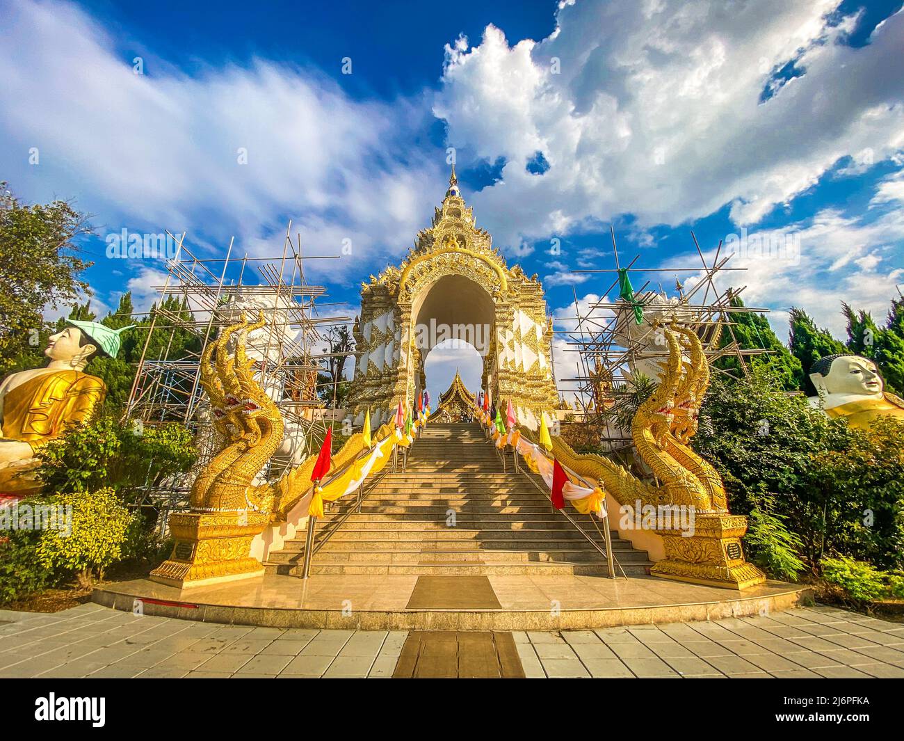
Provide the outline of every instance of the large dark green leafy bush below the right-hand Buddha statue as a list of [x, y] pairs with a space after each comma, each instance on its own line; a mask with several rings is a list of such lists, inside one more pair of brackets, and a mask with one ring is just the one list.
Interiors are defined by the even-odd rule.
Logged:
[[732, 510], [781, 518], [814, 569], [833, 552], [904, 565], [904, 428], [851, 429], [780, 392], [780, 377], [760, 368], [714, 378], [704, 401], [693, 446], [720, 472]]

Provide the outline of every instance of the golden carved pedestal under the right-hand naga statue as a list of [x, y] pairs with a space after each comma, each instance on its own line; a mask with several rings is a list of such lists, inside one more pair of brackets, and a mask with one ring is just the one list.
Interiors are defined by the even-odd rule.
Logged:
[[656, 530], [663, 537], [665, 558], [650, 574], [679, 582], [745, 589], [763, 584], [766, 575], [744, 560], [740, 538], [747, 532], [743, 515], [698, 514], [694, 534], [682, 530]]

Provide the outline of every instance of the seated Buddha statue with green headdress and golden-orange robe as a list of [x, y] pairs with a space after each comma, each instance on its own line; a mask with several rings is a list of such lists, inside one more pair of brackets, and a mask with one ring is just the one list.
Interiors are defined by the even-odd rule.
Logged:
[[75, 319], [67, 324], [44, 350], [47, 366], [7, 375], [0, 383], [0, 495], [40, 489], [36, 451], [67, 426], [88, 421], [107, 395], [104, 382], [84, 369], [94, 356], [115, 357], [119, 333], [127, 327]]

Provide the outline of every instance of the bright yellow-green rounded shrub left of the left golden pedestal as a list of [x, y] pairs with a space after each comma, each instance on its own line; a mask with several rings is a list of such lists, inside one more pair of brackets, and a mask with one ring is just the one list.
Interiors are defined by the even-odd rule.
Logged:
[[75, 573], [82, 586], [90, 586], [93, 575], [122, 556], [134, 516], [119, 501], [113, 489], [68, 492], [52, 497], [52, 503], [72, 508], [72, 531], [44, 530], [38, 546], [43, 565]]

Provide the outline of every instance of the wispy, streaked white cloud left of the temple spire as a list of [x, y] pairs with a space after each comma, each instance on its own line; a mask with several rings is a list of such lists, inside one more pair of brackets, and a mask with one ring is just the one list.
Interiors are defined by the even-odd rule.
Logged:
[[77, 195], [102, 234], [206, 233], [218, 251], [234, 234], [237, 250], [268, 240], [272, 253], [292, 218], [308, 254], [352, 240], [353, 259], [309, 265], [342, 276], [410, 244], [442, 194], [442, 163], [407, 146], [429, 119], [418, 99], [353, 100], [315, 70], [261, 60], [189, 76], [148, 58], [138, 75], [75, 5], [26, 0], [4, 15], [5, 177], [33, 200]]

